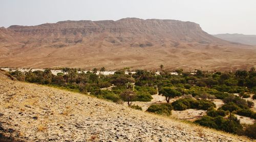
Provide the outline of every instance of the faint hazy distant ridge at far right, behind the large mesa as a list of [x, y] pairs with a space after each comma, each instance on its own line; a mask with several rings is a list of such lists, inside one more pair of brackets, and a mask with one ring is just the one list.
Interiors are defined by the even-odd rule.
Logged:
[[256, 35], [218, 34], [213, 36], [226, 41], [238, 42], [238, 43], [248, 44], [248, 45], [256, 45]]

